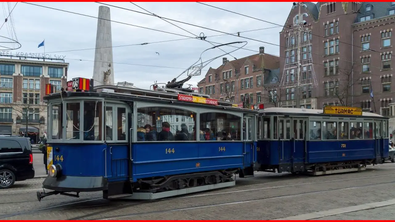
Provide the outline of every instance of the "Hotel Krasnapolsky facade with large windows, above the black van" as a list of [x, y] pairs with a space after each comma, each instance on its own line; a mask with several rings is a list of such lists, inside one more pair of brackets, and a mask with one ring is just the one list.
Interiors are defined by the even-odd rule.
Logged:
[[66, 87], [68, 65], [63, 60], [0, 58], [1, 135], [24, 135], [27, 132], [34, 142], [38, 142], [49, 117], [43, 102], [45, 85], [51, 83], [58, 90]]

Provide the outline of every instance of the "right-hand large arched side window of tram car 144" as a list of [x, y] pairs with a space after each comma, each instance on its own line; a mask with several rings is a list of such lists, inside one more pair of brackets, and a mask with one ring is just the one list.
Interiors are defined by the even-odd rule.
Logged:
[[[204, 111], [204, 112], [199, 112], [199, 120], [200, 120], [200, 123], [199, 123], [199, 129], [200, 130], [203, 130], [203, 129], [205, 129], [205, 128], [207, 128], [206, 126], [204, 126], [204, 122], [208, 122], [207, 121], [207, 114], [216, 114], [215, 115], [215, 119], [217, 120], [218, 118], [217, 118], [217, 115], [226, 115], [226, 118], [224, 118], [224, 120], [226, 120], [227, 121], [227, 124], [225, 124], [225, 122], [223, 123], [223, 125], [224, 125], [224, 127], [223, 127], [223, 129], [222, 129], [222, 132], [226, 132], [226, 134], [228, 134], [228, 133], [230, 133], [231, 134], [231, 140], [218, 140], [218, 136], [216, 137], [216, 140], [200, 140], [200, 142], [208, 142], [208, 141], [210, 141], [210, 142], [213, 142], [213, 141], [220, 141], [220, 142], [227, 142], [227, 141], [229, 141], [229, 142], [234, 142], [234, 141], [242, 141], [242, 133], [243, 133], [243, 130], [244, 130], [244, 126], [243, 126], [243, 122], [244, 122], [244, 118], [242, 118], [241, 116], [239, 116], [239, 115], [235, 115], [234, 113], [229, 113], [229, 112], [219, 112], [219, 111]], [[204, 115], [206, 115], [206, 117], [204, 116]], [[235, 119], [232, 119], [232, 118], [229, 118], [229, 116], [230, 117], [233, 117], [233, 118], [235, 118]], [[245, 116], [245, 117], [247, 117], [247, 116]], [[249, 116], [250, 117], [250, 116]], [[222, 117], [223, 118], [223, 117]], [[221, 119], [222, 119], [221, 118]], [[216, 121], [215, 120], [215, 121]], [[211, 122], [211, 121], [210, 121]], [[232, 126], [234, 126], [234, 124], [236, 123], [236, 125], [237, 125], [237, 128], [236, 128], [236, 130], [235, 130], [235, 133], [236, 133], [236, 135], [234, 136], [233, 135], [233, 130], [234, 130], [234, 128], [232, 128]], [[203, 124], [203, 125], [202, 125]], [[226, 126], [226, 125], [229, 125], [229, 126]], [[203, 126], [203, 127], [202, 127]], [[210, 130], [212, 131], [212, 128], [213, 127], [209, 127], [210, 128]], [[224, 129], [225, 128], [229, 128], [229, 129], [232, 129], [231, 130], [231, 132], [228, 132], [228, 131], [224, 131]], [[247, 130], [247, 129], [246, 129]], [[214, 135], [218, 135], [218, 133], [219, 132], [217, 132], [217, 129], [215, 129], [215, 132], [213, 132], [213, 134]], [[252, 134], [254, 134], [254, 129], [252, 128]], [[244, 135], [243, 135], [244, 136]], [[245, 140], [245, 138], [243, 137], [243, 139]]]

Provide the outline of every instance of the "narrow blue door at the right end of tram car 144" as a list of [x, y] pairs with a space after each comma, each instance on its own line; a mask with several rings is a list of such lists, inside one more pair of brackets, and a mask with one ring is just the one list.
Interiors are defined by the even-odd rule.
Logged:
[[243, 165], [245, 167], [251, 166], [253, 162], [254, 133], [256, 132], [254, 119], [253, 116], [243, 118]]

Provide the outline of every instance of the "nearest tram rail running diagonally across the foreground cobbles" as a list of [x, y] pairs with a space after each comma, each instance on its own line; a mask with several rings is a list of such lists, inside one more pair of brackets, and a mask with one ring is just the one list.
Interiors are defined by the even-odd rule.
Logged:
[[314, 192], [304, 192], [304, 193], [300, 193], [300, 194], [280, 195], [280, 196], [268, 197], [268, 198], [254, 198], [254, 199], [248, 199], [248, 200], [243, 200], [243, 201], [231, 201], [231, 202], [217, 203], [217, 204], [198, 205], [195, 207], [182, 207], [182, 208], [175, 208], [175, 209], [165, 209], [165, 210], [160, 210], [160, 211], [122, 214], [122, 215], [118, 215], [118, 216], [94, 218], [91, 220], [117, 220], [119, 218], [125, 218], [125, 217], [130, 217], [130, 216], [141, 216], [141, 215], [145, 215], [145, 214], [160, 214], [160, 213], [169, 213], [169, 212], [176, 212], [176, 211], [188, 211], [188, 210], [194, 210], [194, 209], [204, 209], [204, 208], [208, 208], [208, 207], [220, 207], [220, 206], [226, 206], [226, 205], [250, 203], [250, 202], [254, 202], [254, 201], [271, 200], [271, 199], [279, 199], [279, 198], [292, 198], [292, 197], [303, 196], [303, 195], [308, 195], [308, 194], [320, 194], [320, 193], [324, 193], [324, 192], [331, 192], [331, 191], [338, 191], [338, 190], [351, 190], [351, 189], [356, 189], [356, 188], [377, 186], [377, 185], [383, 185], [383, 184], [393, 184], [393, 183], [395, 183], [395, 181], [381, 182], [381, 183], [362, 185], [362, 186], [352, 186], [352, 187], [348, 187], [348, 188], [337, 188], [337, 189], [327, 189], [327, 190], [314, 191]]

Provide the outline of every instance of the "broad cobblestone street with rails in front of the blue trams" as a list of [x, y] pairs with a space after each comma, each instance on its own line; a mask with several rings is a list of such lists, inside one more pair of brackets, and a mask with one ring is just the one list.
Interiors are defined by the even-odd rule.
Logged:
[[0, 190], [0, 220], [270, 220], [395, 198], [389, 192], [395, 186], [392, 163], [320, 177], [257, 173], [237, 179], [232, 188], [156, 201], [107, 201], [101, 192], [92, 192], [81, 193], [80, 198], [53, 195], [38, 202], [36, 191], [43, 180], [21, 181]]

